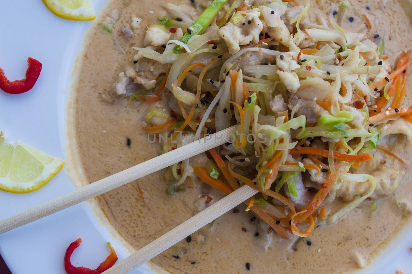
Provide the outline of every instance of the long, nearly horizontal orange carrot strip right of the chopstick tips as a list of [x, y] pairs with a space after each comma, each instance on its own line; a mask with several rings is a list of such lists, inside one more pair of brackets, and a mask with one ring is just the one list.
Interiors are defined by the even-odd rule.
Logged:
[[[316, 147], [294, 147], [290, 150], [289, 153], [290, 155], [312, 154], [328, 158], [329, 150], [324, 150]], [[372, 160], [372, 157], [370, 157], [369, 154], [349, 155], [333, 152], [333, 159], [349, 163], [361, 163]]]

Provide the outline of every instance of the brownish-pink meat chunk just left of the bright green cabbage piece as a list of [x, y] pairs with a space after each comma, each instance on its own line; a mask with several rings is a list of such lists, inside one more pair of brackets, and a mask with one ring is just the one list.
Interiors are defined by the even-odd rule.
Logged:
[[296, 111], [297, 115], [304, 115], [307, 118], [307, 123], [317, 122], [323, 114], [330, 114], [324, 108], [316, 104], [316, 101], [299, 99], [295, 95], [289, 97], [288, 107], [290, 110], [296, 105], [299, 105]]

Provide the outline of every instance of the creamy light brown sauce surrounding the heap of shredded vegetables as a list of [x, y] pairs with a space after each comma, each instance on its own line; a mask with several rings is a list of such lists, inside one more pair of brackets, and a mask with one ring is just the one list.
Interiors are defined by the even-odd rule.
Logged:
[[[196, 0], [200, 1], [200, 0]], [[189, 0], [168, 1], [189, 5]], [[412, 45], [410, 21], [403, 7], [394, 1], [351, 0], [342, 27], [356, 32], [361, 14], [373, 14], [377, 33], [386, 39], [384, 55], [394, 63], [403, 49]], [[387, 2], [382, 9], [381, 5]], [[143, 131], [144, 116], [152, 106], [123, 97], [113, 104], [101, 99], [100, 93], [111, 89], [122, 64], [131, 56], [132, 46], [141, 46], [146, 26], [162, 14], [166, 1], [111, 0], [105, 12], [119, 11], [119, 21], [112, 34], [96, 22], [85, 41], [79, 64], [79, 79], [73, 93], [73, 149], [78, 151], [77, 164], [87, 182], [95, 182], [125, 168], [151, 159], [161, 152], [159, 143], [149, 143]], [[330, 4], [325, 4], [326, 13]], [[315, 3], [312, 6], [316, 6]], [[366, 7], [369, 7], [367, 9]], [[151, 13], [150, 11], [154, 11]], [[131, 42], [119, 32], [129, 23], [131, 15], [143, 19], [140, 32]], [[354, 17], [353, 23], [348, 18]], [[97, 21], [102, 21], [103, 14]], [[123, 53], [122, 51], [125, 51]], [[410, 81], [409, 81], [410, 83]], [[407, 103], [411, 103], [409, 97]], [[130, 145], [127, 140], [130, 139]], [[384, 141], [385, 142], [385, 141]], [[391, 145], [390, 143], [388, 145]], [[402, 147], [391, 145], [401, 153]], [[389, 163], [394, 160], [383, 156]], [[171, 273], [344, 273], [372, 262], [373, 256], [387, 244], [406, 222], [396, 206], [398, 201], [410, 201], [410, 173], [396, 192], [377, 202], [370, 213], [371, 202], [364, 202], [335, 225], [316, 228], [313, 235], [301, 239], [283, 240], [272, 233], [239, 205], [227, 214], [191, 235], [175, 247], [163, 252], [152, 263]], [[202, 195], [218, 200], [222, 193], [206, 184], [200, 188], [183, 187], [174, 196], [166, 194], [169, 182], [162, 171], [126, 184], [97, 198], [98, 205], [117, 232], [135, 249], [140, 249], [160, 235], [197, 213], [194, 206]], [[336, 207], [342, 203], [335, 203]], [[333, 210], [333, 209], [331, 209]], [[327, 212], [328, 213], [328, 212]], [[246, 231], [244, 231], [246, 230]], [[257, 234], [259, 233], [259, 234]], [[311, 243], [311, 245], [308, 244]], [[266, 248], [265, 248], [266, 247]], [[178, 258], [174, 256], [178, 255]], [[250, 270], [246, 269], [250, 264]], [[276, 270], [275, 270], [276, 269]]]

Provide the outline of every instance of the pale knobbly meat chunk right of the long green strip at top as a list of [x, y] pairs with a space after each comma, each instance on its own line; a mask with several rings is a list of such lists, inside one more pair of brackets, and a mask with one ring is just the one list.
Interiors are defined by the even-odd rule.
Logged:
[[259, 34], [263, 26], [259, 16], [259, 9], [252, 9], [236, 25], [229, 22], [218, 30], [218, 35], [226, 42], [230, 54], [238, 52], [239, 45], [259, 42]]

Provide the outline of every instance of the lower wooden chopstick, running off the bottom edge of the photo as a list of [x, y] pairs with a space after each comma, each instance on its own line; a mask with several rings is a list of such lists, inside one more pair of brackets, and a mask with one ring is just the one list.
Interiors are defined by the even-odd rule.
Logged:
[[118, 264], [113, 265], [102, 274], [126, 274], [131, 272], [136, 267], [143, 265], [152, 258], [155, 258], [155, 256], [159, 255], [169, 247], [177, 244], [182, 239], [185, 239], [190, 234], [194, 233], [219, 216], [225, 214], [233, 207], [239, 205], [258, 192], [258, 190], [249, 187], [246, 184], [243, 185], [243, 187], [240, 187], [229, 195], [223, 197], [218, 202], [194, 215], [192, 218], [188, 219], [184, 223], [181, 223], [179, 226], [176, 226], [176, 228], [173, 228], [166, 234], [155, 239], [153, 242], [131, 254]]

